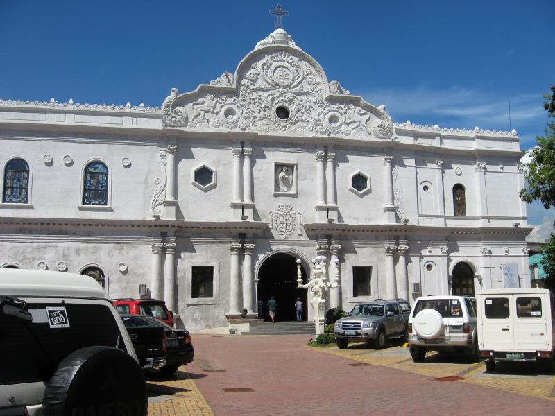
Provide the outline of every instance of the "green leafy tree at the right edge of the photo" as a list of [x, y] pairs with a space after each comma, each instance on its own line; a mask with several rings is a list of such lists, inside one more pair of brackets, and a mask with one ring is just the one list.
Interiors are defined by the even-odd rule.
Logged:
[[[524, 173], [528, 188], [520, 191], [522, 200], [540, 200], [545, 209], [555, 207], [555, 85], [551, 90], [552, 94], [545, 96], [547, 102], [543, 105], [548, 117], [545, 137], [536, 138], [536, 147], [530, 153], [531, 161]], [[543, 254], [541, 263], [546, 274], [545, 286], [555, 291], [554, 233], [540, 252]]]

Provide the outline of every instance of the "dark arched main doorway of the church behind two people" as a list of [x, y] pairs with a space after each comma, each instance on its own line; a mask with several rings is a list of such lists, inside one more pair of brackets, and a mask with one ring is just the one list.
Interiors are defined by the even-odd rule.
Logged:
[[[276, 253], [264, 260], [258, 271], [258, 311], [260, 318], [268, 320], [268, 300], [275, 297], [278, 311], [275, 319], [278, 322], [297, 320], [295, 301], [300, 297], [302, 302], [302, 320], [307, 320], [307, 289], [297, 288], [296, 258], [290, 254]], [[307, 282], [304, 268], [300, 268], [302, 283]]]

